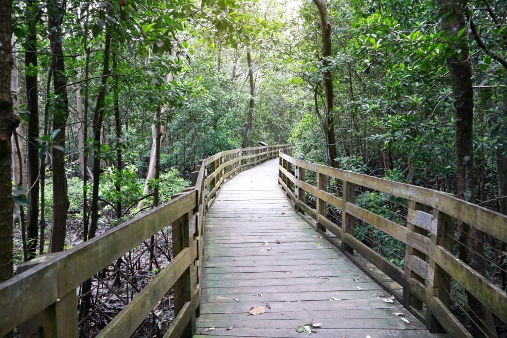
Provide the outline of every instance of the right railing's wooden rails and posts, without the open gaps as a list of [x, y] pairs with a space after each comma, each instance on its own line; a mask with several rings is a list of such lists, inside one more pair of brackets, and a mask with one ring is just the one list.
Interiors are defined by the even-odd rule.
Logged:
[[[290, 154], [290, 151], [285, 153]], [[507, 293], [452, 254], [454, 232], [448, 225], [454, 220], [462, 221], [507, 242], [506, 215], [465, 202], [448, 193], [314, 164], [282, 152], [279, 161], [279, 183], [287, 196], [294, 201], [295, 207], [315, 220], [314, 226], [317, 230], [328, 230], [338, 236], [341, 239], [342, 251], [356, 264], [359, 262], [354, 258], [354, 250], [398, 282], [403, 287], [403, 295], [399, 300], [407, 308], [421, 308], [421, 304], [414, 305], [414, 299], [426, 304], [429, 310], [425, 318], [428, 329], [437, 331], [436, 326], [442, 325], [451, 336], [471, 337], [449, 311], [449, 299], [439, 289], [450, 289], [451, 278], [507, 323]], [[305, 181], [306, 170], [315, 172], [315, 186]], [[342, 181], [341, 198], [327, 191], [324, 183], [327, 177]], [[357, 206], [353, 188], [356, 185], [408, 200], [405, 226]], [[305, 204], [306, 194], [316, 199], [315, 209]], [[340, 225], [327, 218], [327, 205], [341, 210]], [[432, 209], [431, 213], [425, 211], [429, 209]], [[352, 219], [364, 221], [403, 241], [406, 244], [405, 270], [397, 269], [379, 253], [357, 240], [351, 225]], [[428, 233], [431, 233], [431, 236], [428, 236]], [[368, 273], [368, 269], [361, 268]], [[419, 318], [424, 319], [420, 315]]]

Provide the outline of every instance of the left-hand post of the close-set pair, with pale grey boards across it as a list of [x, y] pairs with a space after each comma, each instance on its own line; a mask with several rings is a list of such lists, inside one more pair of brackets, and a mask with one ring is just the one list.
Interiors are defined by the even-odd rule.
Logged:
[[[412, 218], [412, 217], [410, 217], [410, 215], [414, 214], [413, 217], [416, 217], [415, 216], [416, 212], [418, 212], [418, 215], [420, 215], [420, 216], [418, 216], [419, 218], [422, 218], [423, 215], [430, 216], [430, 214], [420, 212], [420, 211], [425, 211], [425, 209], [427, 210], [427, 208], [428, 207], [426, 205], [417, 203], [415, 201], [409, 201], [409, 221], [407, 222], [407, 230], [409, 232], [421, 234], [423, 236], [428, 235], [428, 231], [426, 229], [420, 228], [410, 222], [410, 219]], [[426, 221], [426, 220], [421, 219], [421, 222], [422, 221]], [[428, 224], [428, 226], [429, 226], [429, 224]], [[426, 254], [422, 253], [421, 251], [419, 251], [409, 245], [406, 245], [404, 272], [408, 277], [407, 278], [408, 282], [406, 285], [403, 286], [403, 303], [406, 308], [412, 307], [417, 310], [422, 310], [422, 303], [424, 301], [425, 294], [414, 295], [412, 293], [412, 287], [411, 287], [411, 280], [414, 280], [414, 283], [419, 282], [421, 286], [425, 285], [424, 280], [425, 280], [426, 276], [418, 275], [415, 271], [413, 271], [411, 269], [411, 264], [415, 264], [416, 260], [418, 260], [418, 259], [425, 262], [426, 261]]]

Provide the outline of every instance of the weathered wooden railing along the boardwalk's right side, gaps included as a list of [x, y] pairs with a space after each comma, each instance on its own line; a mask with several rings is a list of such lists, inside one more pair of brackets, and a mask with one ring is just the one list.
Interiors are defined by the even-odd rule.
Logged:
[[[284, 153], [279, 156], [279, 183], [296, 209], [311, 216], [309, 221], [323, 235], [328, 231], [339, 237], [342, 251], [371, 277], [375, 276], [366, 264], [373, 263], [399, 283], [403, 289], [396, 293], [389, 283], [377, 280], [421, 320], [425, 319], [430, 331], [444, 328], [452, 337], [472, 337], [449, 310], [454, 292], [462, 295], [465, 289], [507, 323], [507, 293], [455, 254], [458, 221], [491, 236], [488, 243], [495, 239], [500, 243], [507, 242], [505, 215], [443, 192], [297, 160], [287, 155], [289, 148]], [[372, 199], [381, 205], [370, 205]], [[386, 241], [394, 238], [405, 243], [404, 264], [366, 245], [373, 242], [366, 230], [381, 231]], [[381, 251], [382, 244], [378, 243], [377, 251]], [[489, 245], [488, 249], [494, 248]], [[507, 259], [507, 253], [500, 250], [490, 255], [500, 260], [495, 268], [505, 272], [501, 259]], [[494, 264], [484, 259], [488, 265]], [[361, 261], [365, 262], [362, 266]]]

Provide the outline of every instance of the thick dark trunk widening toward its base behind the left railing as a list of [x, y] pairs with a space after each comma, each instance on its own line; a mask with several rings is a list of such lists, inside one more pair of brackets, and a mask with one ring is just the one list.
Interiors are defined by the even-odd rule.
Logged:
[[53, 229], [49, 249], [51, 252], [63, 251], [67, 230], [67, 177], [65, 175], [65, 127], [68, 117], [67, 78], [63, 58], [63, 35], [61, 23], [65, 14], [63, 4], [51, 0], [48, 4], [48, 27], [53, 68], [53, 86], [55, 99], [53, 110], [53, 138], [51, 149], [53, 157]]

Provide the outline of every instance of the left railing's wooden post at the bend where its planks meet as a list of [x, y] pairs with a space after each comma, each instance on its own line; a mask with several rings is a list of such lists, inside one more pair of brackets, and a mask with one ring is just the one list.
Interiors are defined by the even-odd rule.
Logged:
[[[193, 212], [186, 212], [182, 217], [172, 223], [172, 254], [175, 257], [183, 248], [189, 248], [194, 242], [197, 231], [197, 220]], [[174, 241], [176, 239], [176, 241]], [[199, 257], [197, 257], [199, 258]], [[192, 300], [196, 292], [197, 266], [195, 261], [187, 268], [185, 273], [174, 284], [174, 314], [177, 315], [185, 303]], [[196, 330], [196, 313], [192, 313], [190, 322], [182, 336], [192, 337]]]

